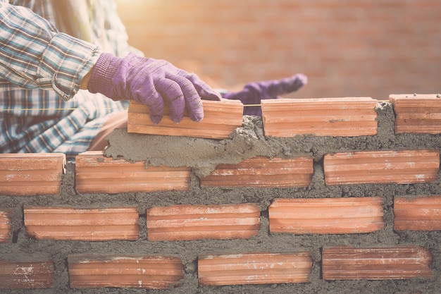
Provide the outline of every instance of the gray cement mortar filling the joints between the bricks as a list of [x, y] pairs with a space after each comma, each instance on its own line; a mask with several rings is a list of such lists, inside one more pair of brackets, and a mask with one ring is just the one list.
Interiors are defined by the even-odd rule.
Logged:
[[[59, 195], [32, 197], [0, 196], [0, 208], [13, 214], [13, 242], [0, 244], [0, 254], [32, 255], [35, 259], [49, 256], [54, 260], [54, 287], [41, 290], [0, 290], [0, 293], [440, 293], [441, 231], [394, 231], [393, 198], [397, 195], [441, 195], [440, 178], [424, 184], [366, 184], [325, 185], [323, 156], [328, 153], [376, 149], [439, 149], [440, 135], [395, 135], [392, 106], [379, 103], [378, 135], [362, 137], [271, 138], [263, 135], [261, 118], [245, 116], [242, 128], [228, 139], [207, 140], [188, 137], [129, 134], [115, 130], [105, 155], [131, 161], [145, 161], [146, 166], [190, 166], [190, 190], [182, 192], [136, 192], [119, 194], [79, 194], [75, 191], [75, 164], [67, 164]], [[307, 188], [200, 188], [199, 177], [206, 176], [220, 163], [239, 163], [258, 155], [268, 157], [297, 157], [311, 154], [314, 172]], [[293, 235], [268, 231], [268, 206], [275, 198], [322, 197], [383, 197], [386, 226], [374, 233], [343, 235]], [[155, 206], [175, 204], [256, 203], [261, 208], [261, 231], [249, 240], [197, 240], [150, 242], [147, 240], [146, 210]], [[23, 226], [23, 207], [26, 205], [66, 205], [71, 207], [137, 206], [139, 208], [139, 239], [135, 241], [79, 242], [34, 240]], [[412, 244], [426, 247], [433, 255], [430, 267], [433, 278], [385, 281], [323, 281], [321, 279], [321, 250], [324, 246], [352, 245], [354, 247], [382, 247]], [[298, 252], [307, 250], [313, 258], [311, 283], [274, 285], [201, 287], [197, 280], [197, 257], [210, 252]], [[180, 286], [169, 290], [142, 289], [71, 289], [68, 281], [67, 257], [75, 254], [106, 255], [175, 255], [185, 268]]]

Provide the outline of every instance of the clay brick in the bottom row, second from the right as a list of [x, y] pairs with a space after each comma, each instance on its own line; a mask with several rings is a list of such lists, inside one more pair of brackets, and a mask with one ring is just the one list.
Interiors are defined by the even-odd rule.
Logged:
[[202, 255], [198, 259], [201, 286], [309, 283], [311, 268], [309, 252]]

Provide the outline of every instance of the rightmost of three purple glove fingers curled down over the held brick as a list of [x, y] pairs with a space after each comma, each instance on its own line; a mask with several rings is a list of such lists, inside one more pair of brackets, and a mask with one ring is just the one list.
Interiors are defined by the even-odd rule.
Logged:
[[192, 121], [201, 121], [204, 118], [204, 106], [195, 85], [181, 75], [168, 75], [168, 78], [180, 86], [184, 94], [185, 108]]

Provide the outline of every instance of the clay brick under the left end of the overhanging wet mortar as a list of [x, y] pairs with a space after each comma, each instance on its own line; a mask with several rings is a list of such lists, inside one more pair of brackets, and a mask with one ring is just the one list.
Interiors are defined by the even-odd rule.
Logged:
[[144, 161], [104, 157], [85, 152], [75, 158], [75, 188], [79, 193], [119, 193], [188, 190], [188, 167], [149, 166]]

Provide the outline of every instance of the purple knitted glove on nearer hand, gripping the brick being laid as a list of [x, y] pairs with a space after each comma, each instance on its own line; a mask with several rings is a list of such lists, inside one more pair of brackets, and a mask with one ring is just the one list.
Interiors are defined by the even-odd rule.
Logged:
[[221, 96], [197, 75], [176, 68], [168, 61], [144, 58], [130, 53], [123, 59], [101, 54], [87, 86], [113, 100], [133, 99], [149, 106], [151, 121], [159, 123], [164, 105], [170, 118], [179, 123], [187, 112], [193, 121], [204, 118], [201, 99], [220, 100]]

